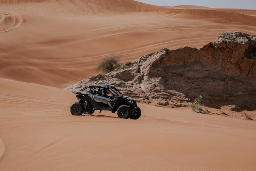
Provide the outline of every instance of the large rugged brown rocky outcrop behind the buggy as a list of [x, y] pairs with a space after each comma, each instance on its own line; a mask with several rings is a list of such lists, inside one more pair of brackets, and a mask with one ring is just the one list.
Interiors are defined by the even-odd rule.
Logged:
[[224, 32], [201, 49], [161, 49], [67, 89], [110, 84], [142, 102], [186, 106], [199, 95], [210, 107], [256, 109], [256, 36]]

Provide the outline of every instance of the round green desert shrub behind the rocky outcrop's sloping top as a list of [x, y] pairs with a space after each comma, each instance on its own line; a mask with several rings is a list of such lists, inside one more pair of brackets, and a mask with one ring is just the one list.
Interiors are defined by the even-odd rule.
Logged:
[[102, 61], [99, 63], [96, 71], [102, 71], [103, 73], [109, 73], [114, 69], [120, 67], [119, 63], [120, 56], [106, 56]]

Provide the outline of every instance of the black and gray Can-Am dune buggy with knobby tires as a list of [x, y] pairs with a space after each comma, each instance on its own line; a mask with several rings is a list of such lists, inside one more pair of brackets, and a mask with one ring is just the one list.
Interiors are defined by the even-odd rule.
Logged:
[[111, 111], [120, 118], [138, 119], [141, 110], [137, 106], [136, 100], [124, 96], [115, 87], [106, 84], [91, 85], [79, 91], [72, 91], [76, 95], [78, 102], [70, 106], [72, 115], [93, 114], [95, 110]]

